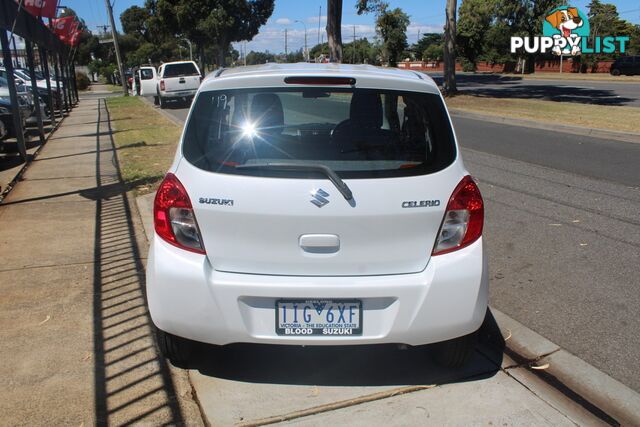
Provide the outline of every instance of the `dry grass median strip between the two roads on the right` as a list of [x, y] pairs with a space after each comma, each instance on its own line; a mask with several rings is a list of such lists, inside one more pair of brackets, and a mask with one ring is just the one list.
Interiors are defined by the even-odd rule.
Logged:
[[458, 95], [446, 99], [451, 109], [499, 117], [640, 133], [640, 108], [590, 105], [538, 99]]

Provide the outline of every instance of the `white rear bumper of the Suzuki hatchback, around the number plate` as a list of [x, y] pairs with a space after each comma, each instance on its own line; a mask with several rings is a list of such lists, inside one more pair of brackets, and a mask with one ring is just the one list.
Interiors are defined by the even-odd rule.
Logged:
[[[210, 344], [422, 345], [469, 334], [485, 316], [488, 270], [482, 239], [432, 257], [415, 274], [351, 277], [266, 276], [215, 271], [205, 256], [154, 237], [147, 265], [153, 322], [163, 331]], [[361, 336], [279, 336], [280, 298], [357, 298]]]

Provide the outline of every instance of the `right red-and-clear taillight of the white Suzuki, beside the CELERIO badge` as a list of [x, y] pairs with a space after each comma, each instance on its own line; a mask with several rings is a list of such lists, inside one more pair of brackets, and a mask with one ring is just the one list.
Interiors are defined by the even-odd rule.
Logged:
[[453, 190], [431, 255], [442, 255], [469, 246], [482, 236], [483, 224], [482, 196], [473, 178], [467, 175]]

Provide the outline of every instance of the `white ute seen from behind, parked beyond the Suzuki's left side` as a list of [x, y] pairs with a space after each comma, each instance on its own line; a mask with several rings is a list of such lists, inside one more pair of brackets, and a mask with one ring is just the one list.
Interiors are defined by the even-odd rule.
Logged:
[[158, 68], [156, 104], [165, 108], [169, 100], [191, 100], [198, 91], [202, 76], [193, 61], [167, 62]]

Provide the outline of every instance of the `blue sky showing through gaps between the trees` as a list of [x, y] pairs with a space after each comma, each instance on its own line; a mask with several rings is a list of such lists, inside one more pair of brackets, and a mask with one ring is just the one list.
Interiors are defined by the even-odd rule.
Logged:
[[[144, 0], [112, 0], [113, 14], [116, 27], [120, 27], [120, 14], [130, 6], [144, 5]], [[407, 30], [409, 43], [415, 43], [419, 34], [428, 32], [442, 32], [444, 26], [445, 0], [388, 0], [392, 8], [400, 7], [411, 17], [411, 24]], [[590, 0], [572, 0], [572, 6], [586, 9]], [[620, 17], [627, 21], [640, 24], [639, 0], [609, 0], [617, 6]], [[343, 0], [342, 10], [342, 39], [349, 42], [353, 38], [355, 26], [356, 38], [375, 37], [375, 23], [372, 14], [358, 16], [355, 9], [356, 0]], [[99, 25], [108, 24], [104, 0], [60, 0], [60, 5], [74, 9], [92, 31]], [[320, 34], [318, 34], [318, 12], [322, 7], [320, 17]], [[324, 27], [326, 25], [326, 0], [276, 0], [273, 15], [260, 28], [259, 34], [246, 43], [246, 51], [265, 51], [273, 53], [284, 52], [284, 30], [287, 29], [287, 45], [289, 51], [301, 49], [304, 46], [305, 26], [307, 29], [307, 43], [309, 48], [318, 43], [318, 39], [326, 40]], [[240, 43], [234, 46], [240, 50]]]

